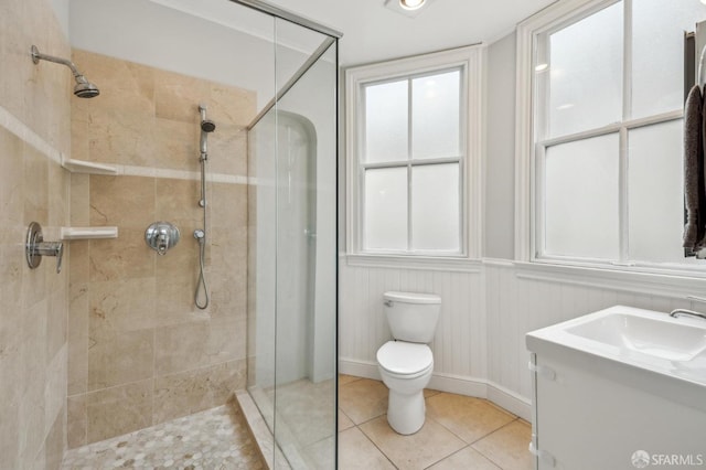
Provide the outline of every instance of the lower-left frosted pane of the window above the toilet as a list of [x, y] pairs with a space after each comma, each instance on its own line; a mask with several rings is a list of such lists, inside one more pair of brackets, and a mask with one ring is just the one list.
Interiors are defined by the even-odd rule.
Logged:
[[365, 248], [407, 249], [407, 168], [365, 171]]

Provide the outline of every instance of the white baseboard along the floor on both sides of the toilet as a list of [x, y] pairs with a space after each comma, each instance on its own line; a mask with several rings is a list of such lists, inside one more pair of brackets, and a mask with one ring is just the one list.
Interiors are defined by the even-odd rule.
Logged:
[[[377, 364], [368, 361], [353, 359], [339, 359], [339, 372], [355, 377], [382, 380]], [[486, 398], [513, 415], [530, 421], [532, 419], [531, 400], [512, 392], [494, 382], [484, 378], [464, 377], [442, 373], [434, 373], [429, 382], [429, 388], [457, 395]]]

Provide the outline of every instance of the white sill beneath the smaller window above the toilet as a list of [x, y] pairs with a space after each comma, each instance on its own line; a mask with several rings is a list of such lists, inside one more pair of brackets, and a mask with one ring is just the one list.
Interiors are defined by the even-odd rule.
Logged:
[[466, 257], [345, 254], [349, 266], [480, 273], [482, 261]]

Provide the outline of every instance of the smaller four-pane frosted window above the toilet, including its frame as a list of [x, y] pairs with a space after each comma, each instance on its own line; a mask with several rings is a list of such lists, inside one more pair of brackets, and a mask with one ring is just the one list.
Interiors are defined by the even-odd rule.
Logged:
[[349, 253], [478, 256], [479, 64], [463, 47], [346, 71]]

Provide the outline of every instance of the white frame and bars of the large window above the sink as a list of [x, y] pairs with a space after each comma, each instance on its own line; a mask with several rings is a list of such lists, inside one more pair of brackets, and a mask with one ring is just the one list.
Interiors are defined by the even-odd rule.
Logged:
[[[629, 129], [634, 129], [643, 126], [648, 126], [655, 122], [666, 122], [674, 119], [680, 119], [683, 115], [682, 110], [674, 110], [670, 113], [663, 113], [657, 116], [631, 119], [624, 118], [622, 122], [616, 125], [606, 126], [602, 129], [595, 129], [588, 132], [581, 132], [574, 136], [563, 136], [559, 138], [549, 138], [542, 142], [535, 143], [535, 109], [534, 106], [538, 100], [538, 96], [535, 90], [535, 71], [534, 71], [534, 53], [537, 44], [535, 38], [557, 30], [558, 28], [570, 24], [576, 21], [576, 18], [581, 18], [591, 14], [595, 11], [600, 10], [607, 6], [616, 3], [618, 0], [567, 0], [564, 2], [554, 3], [552, 7], [543, 10], [536, 15], [525, 20], [517, 26], [517, 68], [516, 68], [516, 127], [515, 127], [515, 259], [522, 263], [530, 263], [534, 265], [545, 265], [550, 268], [550, 265], [556, 266], [556, 271], [560, 273], [561, 267], [586, 268], [586, 269], [609, 269], [609, 270], [623, 270], [627, 273], [634, 273], [635, 275], [656, 275], [665, 277], [662, 278], [665, 286], [674, 286], [675, 282], [666, 278], [675, 279], [674, 276], [691, 277], [691, 278], [706, 278], [704, 267], [706, 266], [682, 266], [682, 265], [656, 265], [656, 264], [621, 264], [607, 263], [606, 260], [587, 260], [580, 258], [558, 257], [558, 256], [537, 256], [537, 243], [538, 231], [537, 223], [541, 223], [542, 214], [537, 210], [537, 188], [539, 174], [536, 174], [537, 161], [542, 157], [542, 152], [546, 146], [556, 145], [557, 142], [564, 142], [568, 140], [575, 140], [578, 137], [591, 137], [597, 135], [616, 133], [619, 132], [621, 139], [621, 165], [624, 165], [625, 149], [622, 148], [625, 142], [627, 132]], [[634, 0], [624, 0], [625, 2]], [[567, 20], [569, 19], [569, 20]], [[630, 71], [625, 70], [624, 74], [629, 74]], [[625, 75], [624, 83], [629, 83], [630, 77]], [[630, 97], [627, 96], [628, 89], [623, 90], [623, 109], [624, 106], [630, 105]], [[621, 184], [621, 191], [624, 185]], [[624, 210], [624, 207], [622, 209]], [[625, 217], [623, 214], [621, 224], [624, 224]], [[621, 227], [621, 232], [624, 232]], [[621, 233], [621, 254], [624, 253], [625, 247], [622, 238], [624, 234]], [[546, 269], [543, 269], [546, 273]], [[699, 284], [702, 285], [702, 284]], [[692, 290], [693, 292], [693, 290]], [[689, 296], [694, 297], [694, 296]]]

